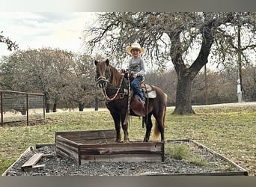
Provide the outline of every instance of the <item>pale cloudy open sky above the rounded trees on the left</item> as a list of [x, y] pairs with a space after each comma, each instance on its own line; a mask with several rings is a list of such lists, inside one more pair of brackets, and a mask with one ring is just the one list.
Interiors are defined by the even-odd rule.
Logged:
[[[82, 51], [82, 31], [94, 21], [93, 12], [0, 12], [0, 31], [19, 49], [64, 49]], [[0, 43], [1, 55], [10, 55]]]

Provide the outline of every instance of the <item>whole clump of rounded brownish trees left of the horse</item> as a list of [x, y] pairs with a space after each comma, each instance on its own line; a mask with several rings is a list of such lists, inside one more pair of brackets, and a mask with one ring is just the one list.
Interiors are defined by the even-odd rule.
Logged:
[[0, 62], [0, 88], [44, 93], [46, 112], [61, 108], [82, 111], [93, 105], [94, 61], [60, 49], [28, 49], [4, 56]]

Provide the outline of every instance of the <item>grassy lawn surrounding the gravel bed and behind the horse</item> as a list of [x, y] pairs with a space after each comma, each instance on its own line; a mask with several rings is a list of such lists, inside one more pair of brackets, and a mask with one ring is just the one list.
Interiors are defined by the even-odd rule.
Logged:
[[[256, 107], [202, 107], [194, 110], [195, 115], [173, 115], [173, 109], [168, 108], [165, 139], [190, 138], [198, 141], [255, 176]], [[2, 174], [29, 146], [54, 144], [57, 131], [115, 129], [115, 126], [109, 111], [84, 111], [46, 114], [44, 123], [0, 126], [0, 129]], [[132, 117], [129, 138], [142, 140], [144, 132], [141, 119]]]

